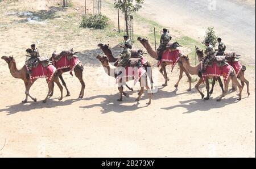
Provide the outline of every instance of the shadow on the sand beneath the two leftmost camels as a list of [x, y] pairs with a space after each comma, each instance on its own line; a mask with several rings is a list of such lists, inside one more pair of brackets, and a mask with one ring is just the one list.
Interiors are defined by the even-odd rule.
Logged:
[[43, 103], [42, 101], [38, 102], [28, 102], [28, 103], [19, 103], [14, 105], [7, 105], [7, 108], [0, 109], [0, 112], [7, 112], [7, 116], [14, 115], [19, 112], [27, 112], [35, 109], [42, 108], [53, 108], [53, 107], [62, 107], [65, 105], [71, 105], [74, 102], [78, 102], [81, 99], [69, 99], [69, 100], [57, 100], [57, 98], [48, 99], [47, 103]]

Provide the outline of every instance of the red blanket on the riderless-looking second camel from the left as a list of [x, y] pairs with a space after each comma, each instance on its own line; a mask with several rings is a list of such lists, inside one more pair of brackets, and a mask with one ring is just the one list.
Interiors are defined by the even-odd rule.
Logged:
[[67, 56], [61, 57], [59, 61], [52, 59], [52, 64], [53, 66], [56, 67], [57, 70], [69, 68], [71, 75], [73, 75], [72, 71], [75, 69], [75, 67], [79, 63], [80, 63], [79, 59], [75, 56], [72, 57], [70, 60], [68, 60]]

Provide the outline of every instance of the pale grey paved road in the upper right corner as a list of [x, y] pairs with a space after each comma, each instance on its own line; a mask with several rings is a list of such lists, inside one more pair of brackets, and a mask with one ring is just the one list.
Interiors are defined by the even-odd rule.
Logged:
[[228, 50], [245, 54], [243, 61], [255, 65], [255, 6], [236, 0], [147, 0], [141, 13], [200, 39], [214, 26]]

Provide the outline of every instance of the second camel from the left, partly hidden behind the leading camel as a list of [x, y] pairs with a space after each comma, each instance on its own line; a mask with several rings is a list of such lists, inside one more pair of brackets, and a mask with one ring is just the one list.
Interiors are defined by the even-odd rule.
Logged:
[[[67, 51], [63, 51], [63, 52], [67, 52]], [[71, 54], [73, 54], [73, 49], [71, 49], [70, 51], [68, 52], [71, 52]], [[61, 52], [62, 53], [62, 52]], [[60, 53], [60, 54], [61, 54]], [[53, 54], [55, 54], [55, 52], [53, 52]], [[52, 57], [50, 58], [50, 60], [52, 60]], [[66, 72], [69, 72], [70, 69], [69, 68], [64, 68], [64, 69], [60, 69], [60, 70], [57, 70], [57, 75], [59, 76], [60, 78], [60, 81], [62, 82], [63, 86], [65, 87], [65, 89], [67, 90], [67, 95], [66, 96], [70, 96], [70, 92], [67, 88], [67, 84], [65, 83], [64, 79], [63, 79], [63, 76], [62, 74], [63, 73], [66, 73]], [[85, 82], [84, 82], [84, 79], [82, 79], [82, 72], [84, 71], [84, 66], [82, 65], [82, 63], [80, 62], [74, 69], [74, 72], [75, 72], [75, 75], [76, 77], [79, 79], [80, 83], [81, 83], [81, 90], [80, 90], [80, 94], [79, 94], [79, 98], [82, 99], [84, 98], [84, 90], [85, 90]], [[53, 86], [54, 87], [54, 86]], [[53, 90], [50, 94], [50, 96], [53, 95]]]

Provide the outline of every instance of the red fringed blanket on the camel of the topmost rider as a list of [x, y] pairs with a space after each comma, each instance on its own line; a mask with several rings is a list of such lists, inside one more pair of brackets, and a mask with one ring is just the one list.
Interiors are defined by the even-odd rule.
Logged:
[[177, 64], [177, 61], [179, 60], [179, 53], [180, 50], [166, 50], [163, 54], [162, 54], [162, 60], [160, 62], [158, 62], [158, 67], [162, 64], [162, 62], [171, 62], [171, 66], [172, 68], [174, 68], [174, 66]]

